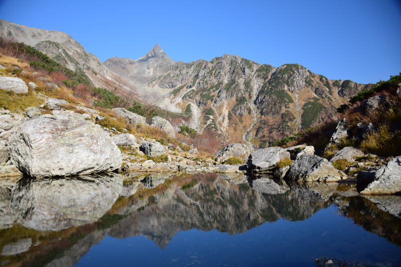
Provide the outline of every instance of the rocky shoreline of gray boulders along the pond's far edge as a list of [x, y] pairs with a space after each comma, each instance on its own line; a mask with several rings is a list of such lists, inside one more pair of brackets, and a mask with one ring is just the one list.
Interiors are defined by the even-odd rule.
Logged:
[[[96, 110], [82, 106], [77, 108], [82, 113], [65, 110], [63, 101], [47, 98], [46, 105], [29, 107], [24, 114], [0, 110], [0, 177], [102, 172], [269, 173], [297, 183], [356, 182], [359, 188], [364, 185], [360, 190], [363, 195], [401, 191], [401, 157], [386, 160], [345, 147], [328, 161], [315, 155], [312, 146], [254, 150], [244, 144], [230, 144], [213, 159], [205, 159], [193, 147], [183, 151], [179, 146], [102, 127], [96, 123], [102, 119]], [[146, 123], [143, 117], [124, 108], [116, 112], [134, 125]], [[342, 136], [341, 125], [342, 121], [331, 142]], [[151, 126], [175, 135], [171, 124], [161, 117], [152, 118]], [[238, 162], [226, 164], [229, 159]], [[352, 165], [341, 170], [337, 165], [342, 160]]]

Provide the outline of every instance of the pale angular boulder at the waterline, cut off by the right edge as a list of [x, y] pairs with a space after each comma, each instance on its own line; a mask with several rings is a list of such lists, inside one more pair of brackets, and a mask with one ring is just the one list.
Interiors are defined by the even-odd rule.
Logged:
[[361, 195], [391, 195], [401, 192], [401, 156], [378, 169], [374, 180], [360, 192]]

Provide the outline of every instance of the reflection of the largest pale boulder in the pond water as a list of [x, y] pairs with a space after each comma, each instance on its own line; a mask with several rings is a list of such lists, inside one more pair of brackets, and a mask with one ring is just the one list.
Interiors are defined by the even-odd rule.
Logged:
[[18, 222], [36, 230], [60, 230], [99, 219], [122, 188], [119, 174], [60, 179], [21, 179], [11, 193]]

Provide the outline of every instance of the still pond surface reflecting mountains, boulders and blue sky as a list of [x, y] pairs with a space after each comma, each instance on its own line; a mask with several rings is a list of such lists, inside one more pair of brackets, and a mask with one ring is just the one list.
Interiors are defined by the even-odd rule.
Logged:
[[[337, 183], [266, 181], [253, 189], [245, 175], [215, 173], [0, 180], [0, 265], [104, 265], [110, 259], [110, 265], [313, 266], [316, 257], [336, 255], [400, 264], [401, 197], [362, 198]], [[122, 244], [125, 261], [116, 261], [110, 251]], [[136, 254], [123, 252], [129, 245]], [[348, 246], [355, 251], [344, 250]]]

